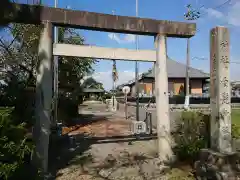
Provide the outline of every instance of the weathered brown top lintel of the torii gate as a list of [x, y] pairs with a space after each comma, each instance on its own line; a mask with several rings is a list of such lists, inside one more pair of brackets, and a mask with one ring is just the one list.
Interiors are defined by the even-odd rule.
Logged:
[[5, 7], [2, 13], [4, 14], [0, 20], [4, 23], [40, 24], [48, 21], [57, 26], [138, 35], [164, 34], [178, 38], [189, 38], [196, 32], [195, 23], [116, 16], [38, 5], [11, 3], [10, 8]]

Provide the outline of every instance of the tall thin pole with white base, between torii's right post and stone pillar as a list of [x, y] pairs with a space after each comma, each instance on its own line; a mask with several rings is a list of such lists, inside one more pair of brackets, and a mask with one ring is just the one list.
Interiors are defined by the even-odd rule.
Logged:
[[186, 87], [185, 87], [185, 91], [186, 91], [186, 95], [185, 95], [185, 104], [184, 104], [184, 108], [188, 109], [189, 108], [189, 71], [190, 71], [190, 38], [187, 39], [187, 62], [186, 62]]

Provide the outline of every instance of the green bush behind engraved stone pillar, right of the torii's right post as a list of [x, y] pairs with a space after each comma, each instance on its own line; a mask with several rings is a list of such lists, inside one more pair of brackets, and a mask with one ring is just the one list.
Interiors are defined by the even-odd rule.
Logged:
[[[232, 124], [232, 137], [240, 138], [240, 126]], [[174, 151], [179, 160], [194, 161], [200, 149], [210, 146], [210, 115], [185, 111], [173, 132]]]

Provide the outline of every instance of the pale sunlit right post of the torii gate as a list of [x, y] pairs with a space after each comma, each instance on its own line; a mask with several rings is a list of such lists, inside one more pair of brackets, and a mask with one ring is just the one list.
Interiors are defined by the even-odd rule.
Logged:
[[155, 63], [155, 96], [158, 133], [158, 155], [163, 161], [172, 158], [169, 97], [167, 76], [167, 50], [166, 36], [157, 35], [155, 39], [156, 63]]

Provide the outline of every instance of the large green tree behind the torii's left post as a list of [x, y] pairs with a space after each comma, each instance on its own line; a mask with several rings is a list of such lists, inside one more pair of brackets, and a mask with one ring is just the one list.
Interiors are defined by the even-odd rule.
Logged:
[[[35, 25], [10, 24], [4, 29], [7, 35], [0, 39], [0, 65], [4, 70], [1, 79], [6, 83], [1, 85], [1, 104], [15, 106], [16, 115], [24, 114], [21, 121], [30, 122], [34, 116], [34, 89], [41, 30], [40, 26]], [[77, 31], [69, 28], [59, 28], [59, 41], [84, 44], [84, 39]], [[68, 98], [77, 100], [81, 91], [80, 80], [86, 74], [93, 73], [94, 63], [95, 60], [90, 58], [59, 57], [60, 97], [71, 94]]]

